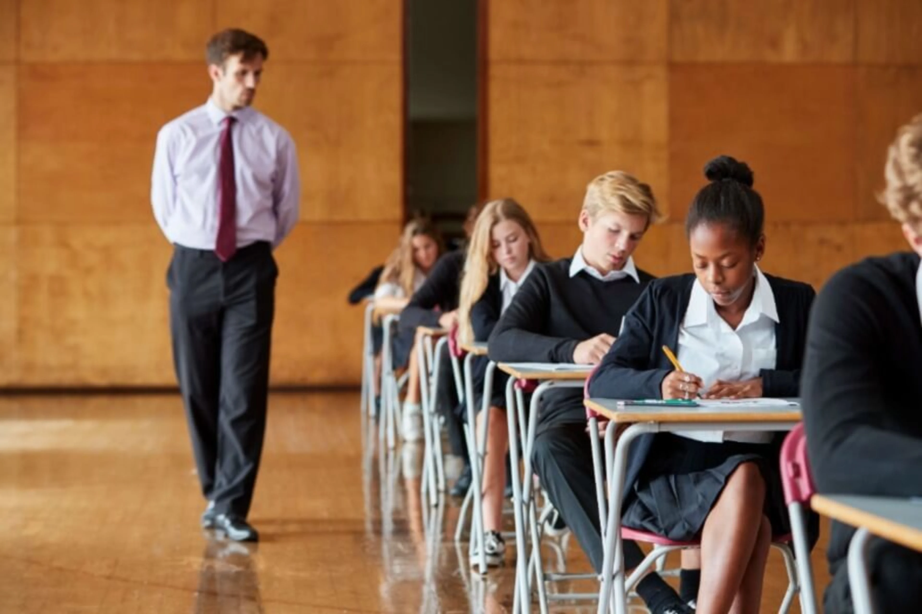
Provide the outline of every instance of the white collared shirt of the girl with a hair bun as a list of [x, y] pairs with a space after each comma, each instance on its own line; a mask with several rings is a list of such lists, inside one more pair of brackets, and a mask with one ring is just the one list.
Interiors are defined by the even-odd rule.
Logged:
[[[678, 358], [682, 368], [704, 383], [704, 391], [722, 379], [738, 382], [759, 377], [762, 369], [774, 369], [777, 361], [774, 326], [778, 309], [772, 286], [758, 267], [755, 269], [752, 302], [737, 330], [719, 315], [714, 299], [695, 280], [689, 307], [679, 329]], [[705, 442], [740, 441], [766, 444], [773, 434], [754, 431], [681, 431], [683, 437]]]

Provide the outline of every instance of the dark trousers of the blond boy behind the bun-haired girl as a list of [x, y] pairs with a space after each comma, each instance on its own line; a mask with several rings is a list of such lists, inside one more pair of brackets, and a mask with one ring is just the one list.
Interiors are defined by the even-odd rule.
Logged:
[[[550, 502], [573, 531], [593, 569], [601, 572], [602, 529], [598, 523], [591, 446], [586, 423], [548, 425], [535, 436], [532, 461]], [[644, 560], [644, 553], [634, 541], [625, 540], [623, 550], [625, 569], [633, 569]]]

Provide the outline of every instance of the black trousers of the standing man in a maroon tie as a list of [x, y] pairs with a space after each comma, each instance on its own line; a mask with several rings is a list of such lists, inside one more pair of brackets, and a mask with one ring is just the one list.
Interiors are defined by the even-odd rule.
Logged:
[[266, 242], [221, 262], [176, 246], [167, 284], [173, 362], [202, 494], [245, 518], [266, 433], [278, 268]]

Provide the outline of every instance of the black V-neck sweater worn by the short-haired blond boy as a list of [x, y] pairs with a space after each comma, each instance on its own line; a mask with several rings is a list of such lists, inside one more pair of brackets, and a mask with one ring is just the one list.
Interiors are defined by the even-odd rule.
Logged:
[[[499, 363], [572, 363], [580, 342], [603, 332], [616, 336], [621, 318], [653, 276], [603, 282], [583, 271], [570, 276], [571, 259], [538, 264], [515, 293], [490, 336], [490, 358]], [[583, 392], [560, 388], [545, 396], [541, 423], [585, 421]]]

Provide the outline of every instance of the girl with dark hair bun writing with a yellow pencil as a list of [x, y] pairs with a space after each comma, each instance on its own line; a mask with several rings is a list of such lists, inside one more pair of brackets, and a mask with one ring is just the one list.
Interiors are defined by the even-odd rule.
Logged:
[[[760, 270], [764, 207], [751, 168], [719, 156], [704, 175], [686, 219], [694, 272], [646, 288], [590, 380], [591, 396], [798, 396], [813, 290]], [[664, 345], [685, 372], [673, 368]], [[696, 431], [643, 435], [631, 447], [622, 523], [701, 541], [698, 612], [759, 611], [772, 536], [789, 528], [778, 469], [783, 439]]]

